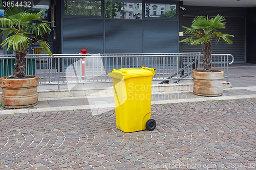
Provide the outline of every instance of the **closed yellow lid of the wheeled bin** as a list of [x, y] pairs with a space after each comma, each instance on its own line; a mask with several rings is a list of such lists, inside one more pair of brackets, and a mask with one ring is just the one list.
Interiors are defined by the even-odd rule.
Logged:
[[143, 76], [154, 76], [156, 72], [155, 68], [121, 68], [114, 69], [112, 72], [109, 72], [108, 76], [116, 79], [127, 79], [132, 77], [143, 77]]

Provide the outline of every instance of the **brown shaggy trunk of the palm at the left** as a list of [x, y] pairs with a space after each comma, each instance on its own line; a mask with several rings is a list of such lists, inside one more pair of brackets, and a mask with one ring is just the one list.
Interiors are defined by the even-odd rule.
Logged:
[[[18, 48], [20, 49], [20, 48]], [[15, 76], [18, 78], [25, 78], [26, 74], [25, 74], [25, 56], [26, 54], [27, 48], [24, 49], [22, 47], [22, 50], [16, 50], [15, 51]]]

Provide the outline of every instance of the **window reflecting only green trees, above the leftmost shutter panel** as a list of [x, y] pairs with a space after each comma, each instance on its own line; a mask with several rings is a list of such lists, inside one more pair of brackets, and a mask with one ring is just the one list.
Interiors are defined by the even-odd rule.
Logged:
[[101, 16], [101, 1], [66, 0], [65, 15]]

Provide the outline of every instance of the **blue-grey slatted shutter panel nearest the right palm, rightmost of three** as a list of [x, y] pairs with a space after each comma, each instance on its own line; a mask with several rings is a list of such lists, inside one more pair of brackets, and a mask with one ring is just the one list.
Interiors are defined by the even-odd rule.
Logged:
[[144, 20], [144, 53], [178, 53], [178, 21]]

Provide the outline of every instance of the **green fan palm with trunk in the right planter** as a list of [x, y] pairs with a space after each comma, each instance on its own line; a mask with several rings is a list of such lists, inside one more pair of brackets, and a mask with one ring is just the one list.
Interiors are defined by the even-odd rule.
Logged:
[[211, 72], [211, 40], [216, 39], [216, 43], [220, 39], [224, 40], [228, 44], [232, 44], [232, 41], [229, 37], [233, 35], [222, 34], [217, 31], [218, 29], [224, 29], [225, 18], [219, 14], [211, 19], [205, 16], [197, 16], [193, 19], [192, 25], [190, 28], [185, 28], [185, 34], [190, 36], [186, 39], [181, 40], [180, 42], [189, 43], [191, 45], [203, 44], [203, 63], [204, 63], [204, 72]]

